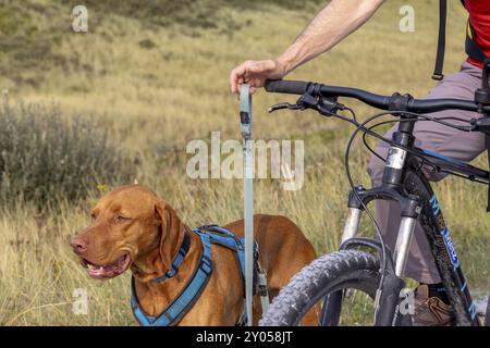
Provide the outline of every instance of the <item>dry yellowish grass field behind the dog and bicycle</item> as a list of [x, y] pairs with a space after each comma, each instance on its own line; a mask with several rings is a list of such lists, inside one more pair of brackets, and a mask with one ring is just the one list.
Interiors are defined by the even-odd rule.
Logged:
[[[221, 130], [222, 140], [240, 139], [229, 71], [245, 59], [278, 55], [322, 4], [290, 9], [279, 1], [243, 7], [209, 0], [192, 12], [194, 2], [184, 1], [177, 10], [159, 8], [164, 1], [150, 2], [156, 8], [148, 12], [144, 7], [112, 10], [110, 1], [88, 1], [89, 33], [75, 34], [70, 30], [70, 1], [0, 1], [0, 88], [9, 90], [12, 103], [56, 102], [68, 123], [71, 115], [94, 115], [90, 122], [137, 159], [138, 181], [164, 197], [188, 225], [240, 219], [242, 183], [188, 178], [185, 145], [208, 140], [211, 130]], [[414, 33], [397, 29], [403, 4], [415, 8]], [[155, 15], [160, 10], [179, 15]], [[421, 97], [433, 86], [436, 13], [437, 4], [430, 1], [387, 1], [368, 25], [289, 77]], [[446, 73], [464, 60], [465, 15], [456, 2], [450, 4], [449, 23]], [[287, 192], [277, 181], [258, 181], [256, 210], [290, 216], [319, 253], [332, 251], [346, 212], [342, 161], [352, 128], [311, 112], [266, 114], [267, 107], [284, 100], [294, 98], [264, 92], [254, 97], [255, 137], [304, 139], [305, 184]], [[348, 104], [362, 117], [372, 112]], [[485, 160], [478, 164], [485, 166]], [[352, 154], [355, 181], [369, 186], [367, 161], [368, 152], [357, 142]], [[93, 192], [88, 198], [76, 204], [61, 200], [57, 211], [39, 213], [21, 201], [1, 207], [0, 324], [135, 324], [128, 276], [89, 279], [68, 246], [69, 237], [89, 223], [90, 207], [108, 188], [87, 189]], [[469, 284], [487, 289], [486, 188], [449, 178], [436, 189]], [[363, 229], [369, 233], [367, 222]], [[72, 312], [77, 288], [88, 293], [87, 315]]]

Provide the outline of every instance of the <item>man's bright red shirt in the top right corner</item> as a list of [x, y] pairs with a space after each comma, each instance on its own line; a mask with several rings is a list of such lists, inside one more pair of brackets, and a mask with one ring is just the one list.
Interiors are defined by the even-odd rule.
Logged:
[[[475, 29], [475, 41], [490, 57], [490, 0], [466, 0], [469, 22]], [[482, 67], [481, 62], [468, 59], [474, 65]]]

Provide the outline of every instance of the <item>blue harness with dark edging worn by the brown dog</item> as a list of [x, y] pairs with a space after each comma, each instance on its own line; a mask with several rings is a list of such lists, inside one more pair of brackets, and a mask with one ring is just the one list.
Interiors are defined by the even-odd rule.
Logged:
[[[173, 326], [193, 308], [200, 294], [205, 289], [210, 275], [212, 273], [211, 260], [211, 244], [216, 244], [235, 251], [235, 256], [240, 263], [242, 278], [245, 287], [245, 241], [244, 238], [238, 238], [233, 232], [217, 225], [206, 225], [199, 228], [194, 228], [200, 237], [203, 244], [203, 254], [199, 266], [195, 270], [194, 275], [187, 282], [184, 289], [179, 296], [158, 315], [151, 316], [145, 313], [136, 297], [134, 277], [131, 278], [131, 307], [136, 320], [143, 326]], [[187, 233], [184, 234], [182, 246], [172, 262], [172, 269], [163, 275], [152, 279], [152, 283], [161, 283], [170, 277], [173, 277], [181, 266], [184, 258], [191, 247], [191, 237]], [[254, 259], [258, 260], [258, 245], [254, 244]], [[254, 272], [256, 273], [256, 272]], [[255, 282], [254, 276], [254, 283]], [[245, 293], [244, 293], [245, 294]], [[246, 311], [242, 318], [242, 322], [246, 321]]]

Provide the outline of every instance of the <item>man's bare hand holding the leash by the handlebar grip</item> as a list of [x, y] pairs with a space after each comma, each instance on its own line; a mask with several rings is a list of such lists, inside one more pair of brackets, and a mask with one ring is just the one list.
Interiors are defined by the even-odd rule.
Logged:
[[267, 79], [280, 79], [286, 74], [286, 69], [278, 60], [245, 61], [232, 70], [230, 74], [230, 88], [235, 95], [242, 84], [250, 85], [250, 92], [264, 87]]

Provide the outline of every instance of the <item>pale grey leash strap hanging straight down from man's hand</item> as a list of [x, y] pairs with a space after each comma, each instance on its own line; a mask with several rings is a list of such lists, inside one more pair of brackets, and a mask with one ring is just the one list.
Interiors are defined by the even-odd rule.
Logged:
[[252, 153], [252, 96], [248, 84], [242, 85], [240, 89], [240, 122], [244, 159], [245, 311], [247, 313], [247, 326], [252, 326], [252, 301], [254, 296], [254, 163]]

